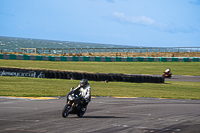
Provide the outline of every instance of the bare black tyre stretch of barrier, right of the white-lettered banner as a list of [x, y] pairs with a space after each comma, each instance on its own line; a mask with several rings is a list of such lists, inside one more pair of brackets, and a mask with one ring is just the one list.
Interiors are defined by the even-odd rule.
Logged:
[[114, 81], [114, 82], [136, 82], [136, 83], [164, 83], [165, 78], [162, 76], [150, 75], [130, 75], [114, 73], [79, 73], [68, 71], [45, 71], [45, 78], [73, 79], [81, 80], [83, 78], [91, 81]]

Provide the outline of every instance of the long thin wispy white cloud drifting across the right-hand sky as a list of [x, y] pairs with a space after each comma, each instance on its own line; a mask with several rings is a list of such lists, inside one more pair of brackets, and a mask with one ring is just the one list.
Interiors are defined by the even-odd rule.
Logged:
[[114, 12], [113, 14], [113, 20], [120, 22], [120, 23], [129, 23], [129, 24], [138, 24], [143, 26], [148, 26], [150, 28], [153, 28], [158, 31], [162, 32], [170, 32], [170, 33], [176, 33], [176, 32], [193, 32], [195, 31], [192, 28], [184, 28], [180, 27], [176, 24], [165, 24], [161, 22], [156, 22], [154, 19], [146, 16], [126, 16], [123, 13]]

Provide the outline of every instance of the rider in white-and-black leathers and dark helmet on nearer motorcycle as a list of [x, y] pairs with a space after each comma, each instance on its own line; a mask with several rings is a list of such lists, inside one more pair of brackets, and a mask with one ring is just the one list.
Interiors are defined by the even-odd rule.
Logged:
[[84, 103], [83, 103], [82, 111], [84, 111], [91, 100], [91, 87], [88, 83], [88, 80], [82, 79], [78, 87], [76, 87], [75, 89], [79, 89], [80, 94], [83, 97]]

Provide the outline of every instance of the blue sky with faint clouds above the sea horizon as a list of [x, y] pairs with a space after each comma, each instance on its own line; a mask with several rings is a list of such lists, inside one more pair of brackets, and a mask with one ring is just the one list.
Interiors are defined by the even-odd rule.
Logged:
[[200, 47], [200, 0], [0, 0], [0, 36]]

